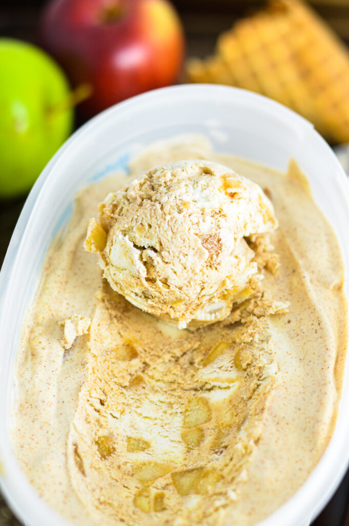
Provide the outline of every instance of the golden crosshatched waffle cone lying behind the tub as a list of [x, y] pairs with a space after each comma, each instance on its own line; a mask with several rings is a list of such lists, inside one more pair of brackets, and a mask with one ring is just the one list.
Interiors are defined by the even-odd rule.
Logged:
[[349, 52], [300, 0], [271, 0], [187, 64], [191, 82], [227, 84], [277, 100], [334, 143], [349, 141]]

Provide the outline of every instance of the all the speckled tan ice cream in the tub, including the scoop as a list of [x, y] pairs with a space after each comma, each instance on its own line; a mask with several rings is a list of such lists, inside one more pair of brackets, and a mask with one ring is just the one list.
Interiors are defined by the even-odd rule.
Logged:
[[16, 359], [20, 466], [78, 526], [252, 526], [331, 438], [346, 326], [294, 161], [153, 144], [79, 191], [48, 251]]

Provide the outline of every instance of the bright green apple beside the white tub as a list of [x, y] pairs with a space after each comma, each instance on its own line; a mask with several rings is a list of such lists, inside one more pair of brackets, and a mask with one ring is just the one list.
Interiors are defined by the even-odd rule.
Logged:
[[64, 73], [46, 53], [0, 38], [0, 198], [28, 191], [70, 135], [69, 92]]

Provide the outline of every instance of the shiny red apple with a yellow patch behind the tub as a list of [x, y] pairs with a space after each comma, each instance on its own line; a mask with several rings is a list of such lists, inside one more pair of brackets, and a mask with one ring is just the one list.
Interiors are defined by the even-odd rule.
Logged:
[[183, 62], [182, 25], [167, 0], [52, 0], [41, 33], [72, 85], [91, 85], [85, 117], [173, 84]]

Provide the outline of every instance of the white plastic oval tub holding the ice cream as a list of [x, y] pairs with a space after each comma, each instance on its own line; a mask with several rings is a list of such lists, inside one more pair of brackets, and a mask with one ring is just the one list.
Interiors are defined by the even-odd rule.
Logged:
[[[92, 179], [126, 168], [134, 151], [183, 133], [206, 135], [222, 153], [285, 170], [294, 157], [339, 238], [349, 297], [349, 184], [331, 148], [312, 125], [265, 97], [212, 85], [176, 86], [132, 98], [79, 129], [51, 159], [26, 201], [0, 274], [1, 489], [30, 526], [67, 526], [39, 498], [14, 457], [11, 415], [14, 361], [26, 307], [33, 300], [52, 237], [69, 220], [76, 191]], [[310, 477], [263, 526], [301, 526], [331, 498], [349, 461], [349, 356], [332, 440]]]

